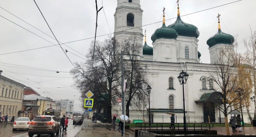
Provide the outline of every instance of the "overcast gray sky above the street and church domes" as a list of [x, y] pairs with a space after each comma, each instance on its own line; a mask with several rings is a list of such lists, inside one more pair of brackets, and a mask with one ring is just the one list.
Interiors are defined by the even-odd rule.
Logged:
[[[166, 8], [165, 19], [172, 18], [172, 16], [177, 17], [177, 8], [175, 8], [176, 1], [177, 0], [141, 0], [141, 9], [144, 10], [142, 25], [158, 22], [162, 14], [163, 7]], [[180, 13], [182, 16], [235, 1], [236, 0], [180, 0]], [[94, 0], [36, 0], [36, 2], [39, 8], [41, 9], [41, 12], [43, 13], [45, 19], [47, 20], [49, 26], [51, 27], [53, 33], [60, 42], [66, 43], [74, 40], [81, 40], [85, 38], [94, 37], [96, 23], [96, 11]], [[106, 18], [108, 20], [111, 33], [113, 33], [114, 31], [113, 15], [116, 10], [116, 5], [116, 0], [103, 0], [104, 11], [106, 14]], [[210, 56], [206, 41], [210, 36], [214, 35], [217, 32], [218, 23], [216, 23], [216, 17], [218, 13], [221, 14], [220, 21], [222, 32], [232, 34], [233, 36], [238, 35], [239, 37], [237, 38], [237, 40], [239, 42], [239, 51], [242, 53], [245, 51], [244, 45], [241, 40], [250, 34], [249, 25], [251, 25], [253, 31], [256, 30], [255, 5], [255, 0], [242, 0], [215, 9], [209, 9], [203, 12], [183, 16], [181, 18], [184, 22], [197, 26], [198, 30], [200, 31], [200, 36], [198, 37], [198, 51], [200, 51], [202, 54], [201, 61], [203, 63], [210, 63]], [[12, 14], [18, 16], [19, 18], [23, 19], [24, 21], [35, 26], [44, 33], [47, 33], [48, 35], [53, 37], [51, 31], [49, 30], [47, 24], [45, 23], [43, 17], [41, 16], [41, 13], [37, 9], [33, 0], [0, 0], [0, 6], [6, 9], [7, 11], [11, 12]], [[98, 0], [98, 8], [100, 8], [101, 6], [102, 1]], [[54, 44], [58, 44], [56, 40], [45, 35], [39, 30], [36, 30], [32, 26], [24, 23], [20, 19], [16, 18], [15, 16], [11, 15], [10, 13], [6, 12], [1, 8], [0, 15], [26, 28], [27, 30], [30, 30], [31, 32], [39, 35], [40, 37], [43, 37], [44, 39], [49, 40]], [[110, 33], [110, 30], [106, 22], [106, 18], [103, 10], [101, 10], [98, 14], [97, 36]], [[169, 25], [170, 23], [173, 23], [175, 20], [176, 19], [172, 19], [171, 22], [166, 21], [166, 23], [168, 23]], [[152, 41], [150, 40], [150, 37], [154, 33], [156, 28], [160, 27], [161, 25], [162, 23], [156, 23], [143, 27], [143, 30], [147, 30], [148, 45], [152, 46]], [[34, 35], [33, 33], [28, 32], [27, 30], [24, 30], [23, 28], [0, 17], [0, 54], [53, 45], [52, 43]], [[105, 38], [107, 38], [107, 36], [97, 37], [97, 40], [104, 40]], [[91, 40], [93, 39], [81, 40], [66, 44], [67, 46], [75, 49], [81, 54], [77, 53], [76, 51], [73, 51], [65, 45], [62, 45], [62, 47], [82, 58], [85, 58], [84, 55], [87, 54], [87, 50], [89, 48]], [[69, 52], [67, 53], [67, 55], [72, 62], [84, 61], [84, 59], [79, 58]], [[0, 63], [0, 70], [3, 70], [4, 76], [9, 75], [7, 77], [11, 79], [15, 78], [14, 80], [23, 83], [26, 86], [30, 86], [32, 88], [42, 88], [41, 86], [48, 87], [45, 89], [42, 88], [41, 90], [36, 88], [34, 89], [44, 97], [49, 96], [55, 100], [74, 100], [75, 110], [80, 110], [79, 93], [77, 93], [77, 90], [70, 87], [73, 84], [72, 78], [59, 78], [71, 77], [69, 73], [65, 72], [69, 72], [69, 70], [73, 68], [72, 64], [69, 62], [61, 48], [57, 46], [52, 46], [31, 51], [4, 54], [0, 55], [0, 62], [14, 64], [8, 65]], [[48, 71], [15, 68], [20, 67], [15, 65], [23, 65], [64, 72], [56, 73]], [[24, 74], [16, 75], [11, 72], [18, 72]], [[20, 80], [22, 80], [23, 82], [21, 82]], [[31, 80], [34, 82], [32, 82]], [[41, 83], [39, 85], [35, 82]], [[65, 88], [53, 89], [53, 87]], [[47, 94], [46, 90], [50, 94]]]

